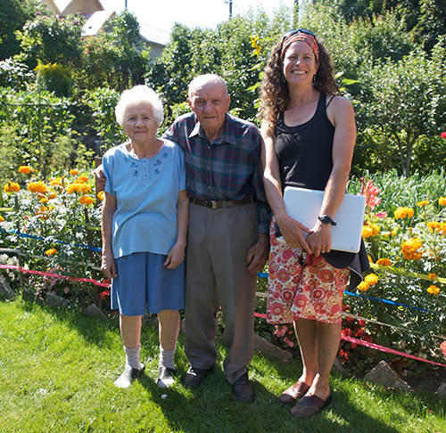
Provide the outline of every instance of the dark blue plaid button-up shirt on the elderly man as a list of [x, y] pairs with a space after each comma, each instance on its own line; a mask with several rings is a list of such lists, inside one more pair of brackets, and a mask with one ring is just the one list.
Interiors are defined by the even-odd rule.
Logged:
[[263, 186], [260, 133], [255, 125], [227, 113], [223, 135], [210, 143], [194, 113], [175, 120], [164, 138], [186, 153], [187, 192], [197, 200], [255, 197], [259, 232], [268, 233], [270, 209]]

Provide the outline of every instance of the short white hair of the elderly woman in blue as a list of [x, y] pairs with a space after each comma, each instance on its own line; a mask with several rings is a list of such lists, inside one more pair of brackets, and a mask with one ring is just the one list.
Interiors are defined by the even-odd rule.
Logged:
[[124, 126], [128, 105], [135, 105], [140, 102], [148, 103], [152, 107], [153, 118], [158, 125], [161, 125], [164, 118], [161, 99], [150, 87], [142, 85], [124, 90], [120, 95], [120, 101], [116, 104], [114, 110], [116, 120], [121, 127]]

